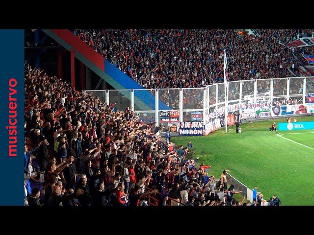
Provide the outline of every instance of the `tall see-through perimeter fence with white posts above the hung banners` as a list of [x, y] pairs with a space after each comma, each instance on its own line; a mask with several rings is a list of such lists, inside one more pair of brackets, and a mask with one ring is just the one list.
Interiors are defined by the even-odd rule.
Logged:
[[[169, 117], [169, 122], [193, 121], [192, 112], [202, 112], [202, 121], [206, 124], [209, 114], [214, 110], [234, 104], [256, 103], [263, 101], [275, 102], [282, 100], [297, 100], [296, 104], [306, 103], [306, 95], [314, 94], [314, 77], [271, 78], [232, 81], [217, 83], [203, 88], [148, 89], [148, 90], [100, 90], [86, 91], [95, 93], [106, 104], [116, 103], [115, 109], [125, 110], [130, 107], [144, 122], [164, 120], [160, 111], [179, 111], [179, 117]], [[225, 85], [228, 89], [225, 89]], [[226, 90], [228, 92], [226, 92]], [[149, 93], [155, 102], [146, 105], [137, 102], [136, 97]], [[225, 96], [228, 95], [227, 102]], [[161, 105], [163, 104], [163, 105]], [[162, 106], [162, 108], [161, 108]], [[229, 113], [234, 113], [235, 110]], [[224, 113], [222, 113], [224, 115]], [[209, 117], [208, 117], [209, 116]], [[251, 118], [260, 118], [256, 115]]]

